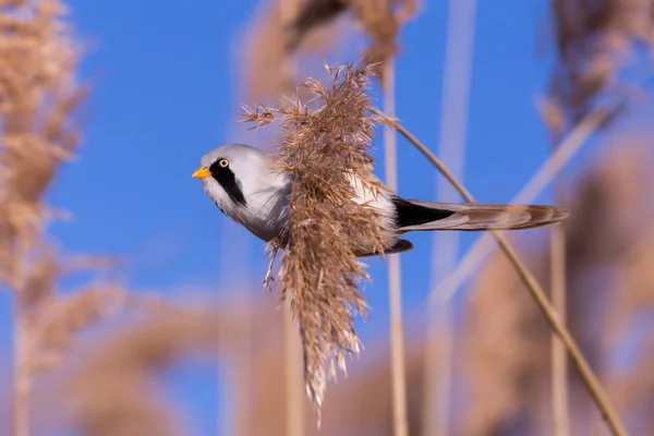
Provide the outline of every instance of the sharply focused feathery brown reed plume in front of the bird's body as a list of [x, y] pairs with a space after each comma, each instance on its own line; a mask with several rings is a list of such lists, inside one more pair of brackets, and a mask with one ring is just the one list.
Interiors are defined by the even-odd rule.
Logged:
[[[304, 350], [306, 390], [317, 410], [327, 376], [336, 376], [336, 364], [344, 371], [344, 354], [360, 350], [352, 311], [366, 313], [358, 286], [367, 275], [355, 252], [383, 252], [388, 243], [377, 213], [352, 199], [349, 181], [352, 175], [360, 178], [372, 195], [384, 189], [372, 175], [373, 159], [367, 154], [373, 134], [366, 95], [372, 66], [348, 64], [328, 72], [329, 88], [313, 81], [305, 84], [315, 95], [315, 108], [293, 101], [276, 109], [283, 131], [278, 166], [292, 181], [288, 225], [271, 243], [274, 253], [283, 249], [282, 293], [291, 295]], [[246, 116], [267, 123], [272, 112]]]

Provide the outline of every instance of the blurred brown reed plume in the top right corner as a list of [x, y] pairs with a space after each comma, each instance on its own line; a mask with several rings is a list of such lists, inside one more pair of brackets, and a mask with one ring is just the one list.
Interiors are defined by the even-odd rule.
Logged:
[[[647, 0], [552, 0], [557, 64], [547, 107], [550, 126], [577, 122], [603, 92], [618, 90], [618, 72], [654, 43], [654, 4]], [[621, 86], [625, 86], [622, 82]], [[560, 113], [557, 113], [560, 112]]]

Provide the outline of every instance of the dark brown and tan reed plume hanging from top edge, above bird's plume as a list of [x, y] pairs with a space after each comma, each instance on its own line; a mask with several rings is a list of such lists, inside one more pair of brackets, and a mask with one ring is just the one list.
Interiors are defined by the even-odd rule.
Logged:
[[287, 28], [286, 49], [293, 51], [310, 29], [348, 10], [371, 39], [364, 58], [377, 63], [380, 74], [382, 65], [398, 51], [398, 32], [415, 14], [417, 0], [307, 0]]

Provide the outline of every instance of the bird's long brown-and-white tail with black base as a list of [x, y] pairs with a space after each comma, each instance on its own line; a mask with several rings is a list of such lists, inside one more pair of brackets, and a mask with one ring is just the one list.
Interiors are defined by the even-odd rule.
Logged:
[[554, 206], [489, 203], [395, 202], [400, 232], [421, 230], [514, 230], [555, 225], [568, 211]]

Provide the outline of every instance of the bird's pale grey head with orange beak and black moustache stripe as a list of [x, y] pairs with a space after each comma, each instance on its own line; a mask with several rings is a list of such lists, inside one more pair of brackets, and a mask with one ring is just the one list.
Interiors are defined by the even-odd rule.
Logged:
[[[247, 207], [247, 196], [268, 171], [268, 155], [244, 144], [227, 144], [204, 155], [193, 177], [225, 213]], [[233, 215], [233, 214], [230, 214]]]

